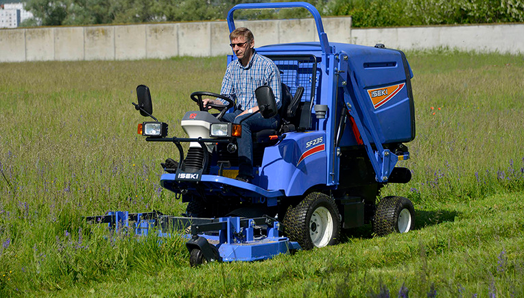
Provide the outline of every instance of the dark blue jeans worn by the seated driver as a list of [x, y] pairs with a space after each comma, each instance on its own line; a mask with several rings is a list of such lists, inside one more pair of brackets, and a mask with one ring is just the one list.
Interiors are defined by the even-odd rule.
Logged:
[[[233, 113], [226, 113], [222, 120], [233, 123], [240, 123], [250, 114], [237, 117], [242, 111], [236, 110]], [[236, 117], [236, 118], [235, 118]], [[259, 132], [263, 129], [277, 129], [280, 123], [280, 116], [264, 119], [260, 113], [254, 114], [248, 120], [242, 122], [242, 136], [237, 138], [239, 153], [239, 175], [253, 177], [253, 140], [252, 132]]]

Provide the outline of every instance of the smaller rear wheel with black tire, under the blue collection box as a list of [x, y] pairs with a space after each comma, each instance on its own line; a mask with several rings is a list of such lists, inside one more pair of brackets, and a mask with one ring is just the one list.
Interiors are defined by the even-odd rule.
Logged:
[[373, 233], [385, 236], [407, 233], [415, 228], [415, 208], [405, 197], [383, 197], [377, 204], [372, 221]]

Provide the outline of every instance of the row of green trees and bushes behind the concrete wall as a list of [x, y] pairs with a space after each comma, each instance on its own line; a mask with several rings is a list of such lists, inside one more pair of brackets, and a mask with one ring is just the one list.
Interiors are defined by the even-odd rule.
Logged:
[[[223, 20], [233, 5], [264, 0], [27, 0], [25, 26]], [[353, 27], [524, 22], [524, 0], [313, 0], [322, 16]], [[246, 10], [235, 18], [302, 18], [304, 9]]]

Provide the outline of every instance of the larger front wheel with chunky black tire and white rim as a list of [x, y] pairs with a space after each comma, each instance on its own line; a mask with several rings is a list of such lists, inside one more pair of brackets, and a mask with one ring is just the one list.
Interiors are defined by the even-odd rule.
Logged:
[[289, 239], [302, 249], [335, 245], [340, 237], [337, 206], [323, 193], [310, 193], [297, 206], [290, 206], [283, 225]]

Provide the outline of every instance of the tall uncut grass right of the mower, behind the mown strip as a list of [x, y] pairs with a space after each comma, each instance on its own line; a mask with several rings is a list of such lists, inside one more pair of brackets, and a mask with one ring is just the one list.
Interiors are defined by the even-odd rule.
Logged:
[[522, 56], [408, 53], [414, 71], [412, 182], [390, 185], [417, 203], [464, 201], [524, 188]]

